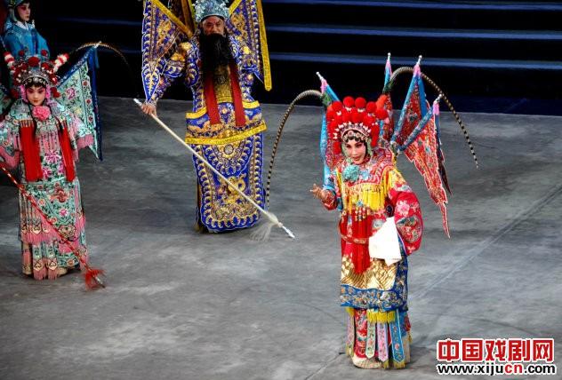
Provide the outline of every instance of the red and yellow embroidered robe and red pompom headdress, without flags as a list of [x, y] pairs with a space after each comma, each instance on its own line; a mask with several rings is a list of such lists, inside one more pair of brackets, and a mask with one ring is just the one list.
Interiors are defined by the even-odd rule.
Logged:
[[[335, 165], [325, 184], [329, 193], [324, 205], [341, 212], [341, 305], [349, 313], [347, 351], [358, 367], [402, 368], [410, 359], [407, 256], [422, 242], [422, 213], [393, 155], [376, 144], [378, 120], [388, 115], [375, 108], [361, 98], [328, 107], [326, 122], [334, 151], [340, 152], [341, 141], [354, 139], [370, 145], [370, 153], [360, 164], [348, 158]], [[392, 265], [369, 255], [369, 238], [389, 217], [396, 220], [402, 252], [402, 259]]]

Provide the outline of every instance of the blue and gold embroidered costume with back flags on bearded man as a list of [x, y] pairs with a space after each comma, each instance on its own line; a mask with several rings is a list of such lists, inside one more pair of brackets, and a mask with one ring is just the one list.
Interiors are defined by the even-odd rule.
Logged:
[[[190, 2], [181, 4], [185, 6], [178, 6], [184, 10], [179, 19], [171, 15], [173, 7], [171, 11], [157, 0], [145, 4], [146, 101], [156, 104], [165, 89], [183, 77], [193, 93], [193, 112], [186, 115], [185, 141], [263, 206], [262, 132], [266, 124], [259, 103], [251, 95], [256, 76], [265, 78], [266, 86], [270, 86], [261, 3], [236, 2], [229, 10], [222, 1], [200, 0], [195, 5], [195, 18], [189, 13]], [[230, 59], [227, 64], [205, 70], [201, 53], [204, 35], [198, 25], [211, 16], [226, 21]], [[245, 202], [196, 157], [193, 162], [197, 172], [199, 226], [221, 232], [253, 226], [258, 221], [260, 213], [252, 204]]]

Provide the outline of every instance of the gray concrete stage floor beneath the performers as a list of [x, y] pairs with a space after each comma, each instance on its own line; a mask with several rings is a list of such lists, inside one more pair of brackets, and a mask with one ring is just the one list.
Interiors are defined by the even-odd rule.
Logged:
[[[188, 107], [164, 100], [159, 114], [182, 135]], [[263, 109], [269, 162], [285, 107]], [[337, 215], [308, 191], [321, 181], [320, 108], [297, 108], [273, 176], [270, 209], [298, 239], [276, 230], [267, 243], [251, 231], [195, 233], [184, 148], [131, 99], [103, 98], [100, 111], [105, 160], [83, 151], [79, 176], [92, 264], [108, 288], [86, 292], [77, 273], [20, 275], [16, 189], [2, 178], [0, 378], [430, 379], [445, 337], [553, 337], [562, 354], [562, 118], [462, 115], [476, 170], [444, 112], [451, 239], [421, 176], [399, 160], [425, 221], [410, 260], [412, 363], [373, 372], [342, 354]]]

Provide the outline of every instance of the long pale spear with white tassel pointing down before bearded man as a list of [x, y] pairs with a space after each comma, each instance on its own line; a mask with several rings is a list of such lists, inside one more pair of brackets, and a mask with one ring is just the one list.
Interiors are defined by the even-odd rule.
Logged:
[[[139, 105], [139, 107], [142, 107], [142, 103], [141, 100], [139, 99], [133, 99], [134, 102]], [[255, 207], [256, 209], [260, 210], [261, 214], [268, 218], [268, 222], [265, 224], [262, 224], [261, 226], [259, 226], [257, 228], [257, 230], [252, 234], [252, 237], [254, 240], [259, 240], [259, 241], [266, 241], [269, 238], [269, 234], [271, 232], [271, 228], [273, 226], [277, 226], [279, 228], [283, 228], [283, 230], [285, 231], [286, 234], [288, 234], [291, 238], [295, 238], [294, 234], [291, 232], [290, 229], [288, 229], [287, 227], [283, 226], [283, 223], [279, 222], [279, 219], [277, 219], [277, 217], [272, 213], [272, 212], [268, 212], [266, 210], [264, 210], [258, 203], [256, 203], [255, 201], [253, 201], [252, 198], [250, 198], [248, 195], [244, 194], [239, 188], [238, 186], [234, 185], [232, 182], [229, 181], [229, 179], [227, 179], [226, 177], [224, 177], [221, 172], [219, 170], [216, 170], [213, 168], [213, 166], [207, 162], [205, 160], [205, 158], [203, 158], [203, 156], [201, 154], [198, 154], [191, 146], [189, 146], [183, 139], [181, 139], [181, 137], [179, 137], [178, 135], [176, 135], [171, 129], [170, 127], [168, 127], [164, 122], [162, 122], [157, 115], [154, 114], [149, 114], [157, 123], [158, 125], [160, 125], [165, 131], [167, 131], [168, 133], [170, 133], [170, 135], [172, 135], [173, 139], [178, 140], [181, 145], [185, 146], [189, 152], [191, 152], [191, 154], [195, 155], [197, 157], [197, 159], [200, 162], [203, 162], [209, 169], [213, 170], [214, 174], [216, 174], [217, 176], [219, 176], [227, 185], [230, 186], [230, 188], [232, 188], [233, 190], [235, 190], [238, 194], [240, 194], [240, 196], [242, 196], [246, 201], [250, 202], [253, 204], [253, 207]]]

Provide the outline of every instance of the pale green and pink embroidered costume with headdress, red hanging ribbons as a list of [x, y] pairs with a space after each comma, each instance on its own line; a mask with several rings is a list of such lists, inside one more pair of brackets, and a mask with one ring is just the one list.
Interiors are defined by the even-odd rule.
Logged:
[[[45, 60], [42, 60], [45, 59]], [[16, 61], [10, 53], [5, 60], [13, 83], [20, 91], [3, 123], [0, 123], [0, 157], [8, 167], [19, 166], [20, 183], [31, 194], [49, 221], [76, 248], [85, 248], [84, 210], [80, 183], [76, 177], [78, 151], [95, 150], [96, 132], [55, 100], [60, 96], [55, 73], [68, 56], [55, 61], [37, 56]], [[33, 106], [26, 87], [43, 87], [43, 105]], [[71, 87], [68, 87], [71, 88]], [[43, 216], [20, 193], [20, 239], [23, 273], [37, 280], [54, 279], [78, 265], [72, 249], [44, 221]], [[81, 251], [87, 257], [86, 251]]]

